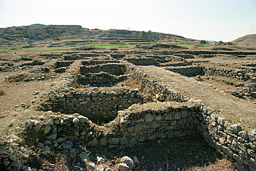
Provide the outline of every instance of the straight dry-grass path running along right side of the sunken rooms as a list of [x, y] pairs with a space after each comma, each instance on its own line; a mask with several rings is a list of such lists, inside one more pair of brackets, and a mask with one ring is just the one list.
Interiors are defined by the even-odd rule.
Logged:
[[225, 119], [241, 123], [248, 130], [256, 128], [256, 105], [229, 94], [219, 92], [210, 86], [184, 77], [156, 66], [136, 66], [138, 70], [146, 72], [147, 77], [152, 77], [160, 83], [169, 85], [174, 90], [179, 90], [188, 98], [201, 100], [208, 109], [220, 110], [219, 115]]

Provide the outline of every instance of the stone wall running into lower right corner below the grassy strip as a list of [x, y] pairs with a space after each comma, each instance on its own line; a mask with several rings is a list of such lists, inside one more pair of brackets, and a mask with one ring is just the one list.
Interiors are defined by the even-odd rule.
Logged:
[[247, 132], [239, 124], [230, 124], [226, 119], [201, 108], [199, 133], [217, 152], [235, 164], [238, 170], [256, 170], [256, 130]]

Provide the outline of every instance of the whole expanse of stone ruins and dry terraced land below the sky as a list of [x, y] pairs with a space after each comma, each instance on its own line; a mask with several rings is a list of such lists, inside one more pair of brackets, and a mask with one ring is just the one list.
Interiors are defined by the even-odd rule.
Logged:
[[256, 170], [256, 48], [22, 29], [73, 32], [0, 48], [0, 170]]

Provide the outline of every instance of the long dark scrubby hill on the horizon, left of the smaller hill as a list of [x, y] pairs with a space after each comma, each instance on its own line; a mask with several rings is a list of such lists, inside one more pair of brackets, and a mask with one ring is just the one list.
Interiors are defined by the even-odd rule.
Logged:
[[84, 43], [93, 41], [104, 42], [158, 42], [158, 41], [188, 41], [184, 37], [174, 34], [163, 34], [151, 31], [131, 30], [89, 30], [82, 26], [44, 26], [35, 28], [21, 26], [0, 28], [0, 44], [13, 45], [19, 43], [35, 43], [37, 41], [59, 41], [61, 39], [88, 39]]

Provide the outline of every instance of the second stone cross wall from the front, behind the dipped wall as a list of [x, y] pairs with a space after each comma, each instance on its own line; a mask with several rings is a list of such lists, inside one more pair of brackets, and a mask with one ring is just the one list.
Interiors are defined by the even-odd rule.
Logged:
[[94, 122], [106, 123], [116, 118], [118, 110], [129, 108], [134, 103], [143, 103], [138, 90], [66, 91], [68, 90], [56, 93], [52, 90], [46, 94], [42, 103], [44, 110], [66, 114], [77, 112]]

